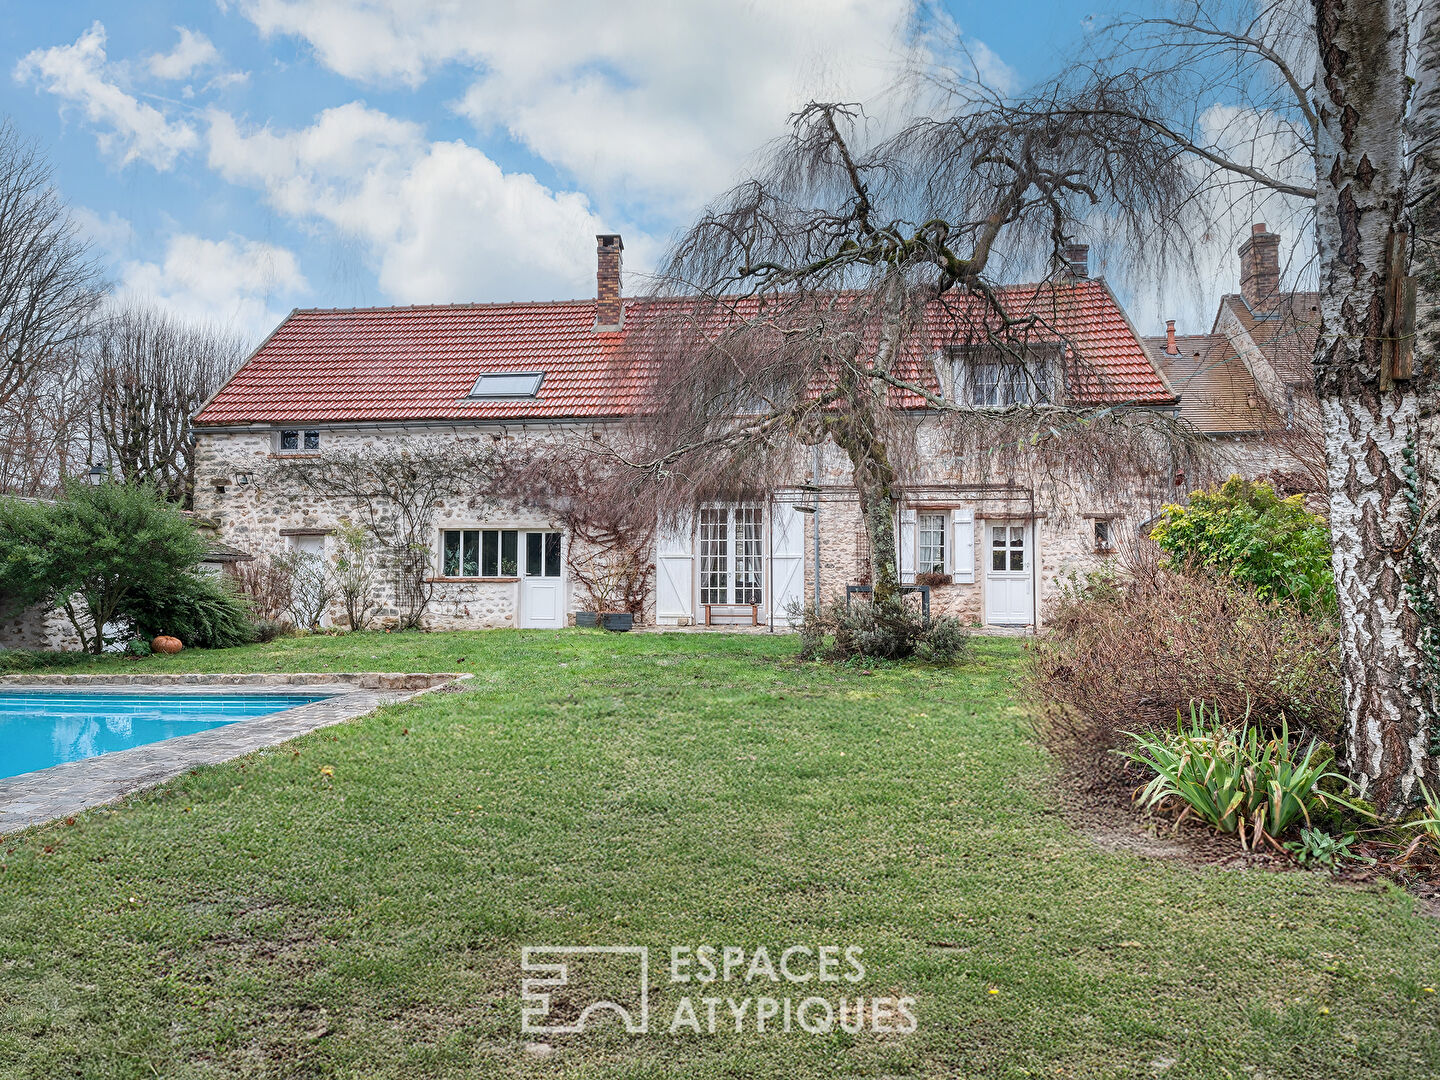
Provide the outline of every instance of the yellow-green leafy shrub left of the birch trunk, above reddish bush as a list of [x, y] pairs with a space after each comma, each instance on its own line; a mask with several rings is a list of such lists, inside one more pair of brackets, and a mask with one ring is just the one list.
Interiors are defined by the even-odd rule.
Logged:
[[1192, 492], [1188, 505], [1165, 507], [1151, 536], [1172, 569], [1225, 575], [1261, 599], [1335, 608], [1329, 527], [1305, 508], [1305, 495], [1282, 498], [1269, 484], [1231, 477]]

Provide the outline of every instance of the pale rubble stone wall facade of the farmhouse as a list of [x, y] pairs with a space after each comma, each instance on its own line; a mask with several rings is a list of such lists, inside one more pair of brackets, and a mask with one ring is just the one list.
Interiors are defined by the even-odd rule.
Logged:
[[[500, 448], [524, 442], [589, 438], [585, 426], [560, 425], [474, 425], [432, 429], [327, 429], [321, 433], [321, 452], [366, 452], [393, 449], [405, 442]], [[943, 462], [937, 433], [922, 428], [917, 441], [920, 459]], [[347, 500], [323, 497], [300, 490], [285, 480], [282, 455], [276, 449], [275, 433], [269, 431], [204, 432], [196, 446], [196, 511], [219, 526], [219, 537], [256, 559], [266, 559], [294, 546], [297, 534], [327, 534], [341, 523], [356, 518], [356, 507]], [[1259, 445], [1230, 441], [1217, 446], [1221, 471], [1234, 469], [1244, 475], [1261, 475], [1276, 468], [1274, 454]], [[845, 586], [867, 580], [868, 541], [861, 523], [860, 505], [851, 484], [850, 464], [835, 448], [827, 445], [818, 464], [811, 449], [795, 455], [795, 487], [775, 492], [769, 505], [772, 514], [779, 503], [808, 507], [816, 503], [818, 513], [804, 514], [804, 600], [844, 598]], [[1096, 478], [1084, 484], [1058, 484], [1041, 474], [1031, 477], [985, 477], [975, 462], [939, 464], [923, 477], [923, 484], [906, 488], [904, 504], [920, 513], [939, 513], [948, 523], [971, 516], [973, 518], [973, 580], [936, 585], [932, 588], [932, 611], [955, 615], [971, 625], [989, 621], [986, 596], [992, 583], [986, 567], [991, 557], [989, 527], [1015, 523], [1030, 530], [1028, 567], [1031, 577], [1030, 624], [1038, 615], [1044, 624], [1044, 609], [1058, 593], [1063, 579], [1071, 572], [1083, 573], [1113, 557], [1115, 549], [1128, 533], [1161, 513], [1165, 503], [1182, 501], [1187, 484], [1194, 478], [1174, 477], [1165, 462], [1156, 462], [1146, 482], [1119, 478]], [[816, 481], [818, 480], [818, 485]], [[243, 481], [243, 482], [242, 482]], [[806, 485], [801, 488], [799, 485]], [[818, 491], [816, 491], [818, 487]], [[1096, 523], [1104, 523], [1100, 543]], [[556, 523], [537, 511], [520, 505], [485, 501], [482, 498], [451, 498], [433, 507], [431, 528], [439, 557], [439, 533], [444, 528], [518, 528], [553, 530]], [[769, 523], [768, 526], [769, 527]], [[819, 536], [816, 566], [815, 539]], [[953, 552], [953, 530], [948, 539]], [[569, 556], [570, 537], [564, 537]], [[334, 541], [325, 541], [333, 544]], [[436, 563], [438, 564], [438, 563]], [[696, 567], [697, 569], [697, 567]], [[769, 567], [765, 573], [770, 589]], [[694, 572], [693, 572], [694, 580]], [[521, 624], [521, 582], [517, 577], [433, 580], [433, 595], [426, 612], [428, 629], [488, 629]], [[395, 625], [397, 605], [389, 580], [374, 589], [377, 625]], [[577, 595], [569, 567], [564, 579], [564, 611], [573, 619], [576, 611], [590, 606]], [[657, 592], [652, 586], [642, 621], [654, 622]], [[762, 618], [780, 622], [783, 612], [766, 611]], [[698, 621], [698, 606], [688, 619]], [[338, 603], [330, 621], [343, 622]]]

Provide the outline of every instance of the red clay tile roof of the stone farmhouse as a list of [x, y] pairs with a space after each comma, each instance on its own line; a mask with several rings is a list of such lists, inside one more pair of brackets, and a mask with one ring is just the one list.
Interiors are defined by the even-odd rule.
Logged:
[[[1011, 317], [1035, 314], [1034, 340], [1064, 338], [1073, 397], [1174, 403], [1125, 314], [1100, 281], [1002, 291]], [[641, 305], [626, 301], [635, 324]], [[593, 331], [595, 301], [292, 311], [200, 410], [196, 423], [560, 420], [641, 408], [648, 366], [621, 348], [625, 331]], [[935, 337], [935, 336], [933, 336]], [[935, 389], [929, 364], [926, 380]], [[468, 400], [482, 373], [544, 372], [534, 399]]]

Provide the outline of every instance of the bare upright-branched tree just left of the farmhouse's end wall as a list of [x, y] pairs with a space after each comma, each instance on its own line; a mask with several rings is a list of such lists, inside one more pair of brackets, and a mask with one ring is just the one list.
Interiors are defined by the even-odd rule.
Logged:
[[190, 505], [190, 418], [245, 360], [236, 334], [187, 324], [144, 304], [105, 312], [91, 353], [95, 426], [118, 477], [156, 484]]

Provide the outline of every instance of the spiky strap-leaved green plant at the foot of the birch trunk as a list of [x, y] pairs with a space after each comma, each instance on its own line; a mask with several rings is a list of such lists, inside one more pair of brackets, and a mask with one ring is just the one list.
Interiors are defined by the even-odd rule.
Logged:
[[1201, 703], [1191, 707], [1188, 727], [1176, 717], [1174, 733], [1130, 737], [1136, 749], [1117, 753], [1155, 772], [1138, 801], [1155, 806], [1179, 799], [1187, 814], [1218, 832], [1237, 834], [1241, 847], [1263, 841], [1283, 850], [1277, 838], [1302, 819], [1309, 825], [1312, 809], [1332, 802], [1359, 809], [1322, 789], [1325, 780], [1348, 785], [1331, 772], [1335, 752], [1312, 739], [1302, 755], [1283, 723], [1279, 734], [1264, 737], [1251, 724], [1230, 727], [1218, 710]]

